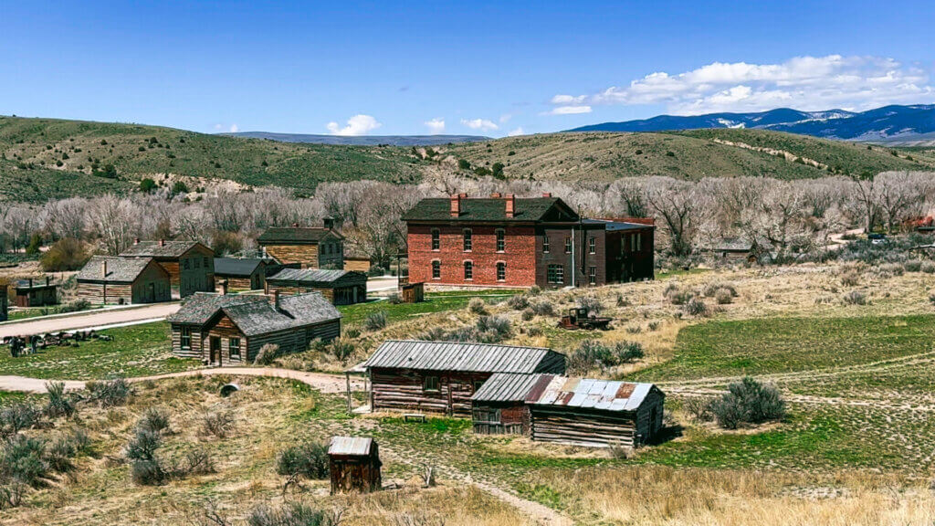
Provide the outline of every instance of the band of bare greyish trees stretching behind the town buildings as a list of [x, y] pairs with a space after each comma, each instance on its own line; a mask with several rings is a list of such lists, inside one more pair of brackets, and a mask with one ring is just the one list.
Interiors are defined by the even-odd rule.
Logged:
[[768, 242], [785, 254], [823, 246], [828, 236], [847, 228], [892, 232], [927, 215], [935, 202], [935, 174], [885, 172], [859, 181], [645, 177], [573, 184], [443, 176], [418, 185], [323, 183], [310, 198], [262, 188], [195, 201], [162, 191], [72, 197], [43, 205], [0, 203], [0, 252], [22, 250], [36, 233], [47, 241], [91, 242], [107, 254], [121, 252], [136, 237], [212, 243], [219, 233], [233, 234], [242, 248], [251, 248], [268, 226], [318, 225], [329, 216], [353, 251], [385, 266], [405, 244], [401, 215], [423, 197], [455, 192], [518, 197], [550, 192], [587, 215], [651, 216], [658, 226], [657, 249], [673, 256], [732, 238]]

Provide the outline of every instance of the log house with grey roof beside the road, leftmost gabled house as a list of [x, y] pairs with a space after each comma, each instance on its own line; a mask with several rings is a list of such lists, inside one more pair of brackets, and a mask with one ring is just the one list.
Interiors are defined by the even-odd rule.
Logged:
[[103, 305], [172, 300], [169, 273], [150, 257], [94, 256], [78, 273], [78, 298]]

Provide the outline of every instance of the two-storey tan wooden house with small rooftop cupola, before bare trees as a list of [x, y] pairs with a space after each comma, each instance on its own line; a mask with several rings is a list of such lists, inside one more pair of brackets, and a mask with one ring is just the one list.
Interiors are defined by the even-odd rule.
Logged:
[[343, 269], [344, 236], [330, 221], [324, 226], [267, 228], [256, 240], [267, 256], [303, 269]]

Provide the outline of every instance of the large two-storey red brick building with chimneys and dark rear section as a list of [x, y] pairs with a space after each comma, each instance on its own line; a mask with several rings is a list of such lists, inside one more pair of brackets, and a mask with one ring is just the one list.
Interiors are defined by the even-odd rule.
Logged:
[[583, 219], [550, 194], [427, 198], [403, 216], [410, 283], [561, 287], [654, 276], [648, 219]]

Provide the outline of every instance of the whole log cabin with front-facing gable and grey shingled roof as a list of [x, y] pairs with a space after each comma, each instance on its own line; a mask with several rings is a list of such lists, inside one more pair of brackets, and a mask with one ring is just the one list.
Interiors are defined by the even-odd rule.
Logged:
[[199, 292], [167, 321], [176, 356], [239, 365], [251, 363], [267, 343], [287, 354], [304, 351], [315, 339], [334, 340], [340, 335], [340, 319], [334, 305], [317, 292], [286, 298]]

